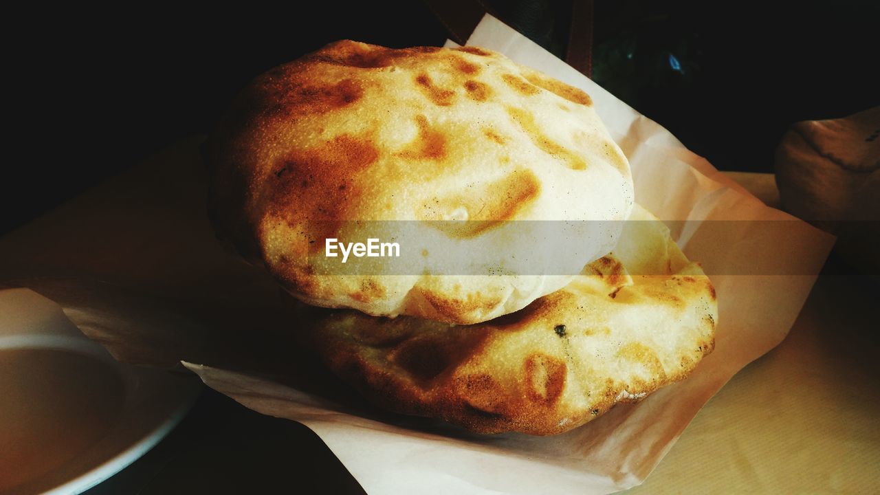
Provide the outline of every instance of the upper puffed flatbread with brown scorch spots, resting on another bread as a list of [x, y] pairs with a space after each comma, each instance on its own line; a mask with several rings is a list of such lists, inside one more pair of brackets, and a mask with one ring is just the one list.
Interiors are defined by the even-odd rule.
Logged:
[[[297, 299], [372, 315], [509, 314], [611, 251], [633, 204], [590, 97], [481, 48], [333, 43], [248, 85], [206, 151], [218, 233]], [[400, 249], [423, 259], [316, 269], [339, 262], [326, 238], [366, 240], [356, 220], [412, 221], [423, 230]], [[516, 220], [607, 221], [545, 239]], [[434, 262], [452, 248], [468, 255]], [[511, 253], [531, 271], [510, 269]]]

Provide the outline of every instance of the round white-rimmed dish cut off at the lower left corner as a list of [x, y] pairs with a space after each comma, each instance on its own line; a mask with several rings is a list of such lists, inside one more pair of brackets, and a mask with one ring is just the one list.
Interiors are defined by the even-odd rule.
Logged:
[[116, 361], [36, 292], [0, 291], [0, 493], [88, 490], [162, 440], [201, 390]]

